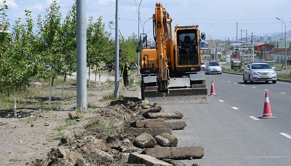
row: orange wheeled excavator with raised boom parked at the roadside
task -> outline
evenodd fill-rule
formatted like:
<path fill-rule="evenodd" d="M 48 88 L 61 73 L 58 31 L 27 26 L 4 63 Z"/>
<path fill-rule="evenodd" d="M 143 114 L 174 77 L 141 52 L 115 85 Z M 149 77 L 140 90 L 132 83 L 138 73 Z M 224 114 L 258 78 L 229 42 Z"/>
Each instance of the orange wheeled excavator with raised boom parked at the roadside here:
<path fill-rule="evenodd" d="M 153 14 L 153 34 L 156 46 L 141 52 L 141 98 L 150 103 L 208 103 L 205 75 L 200 71 L 200 39 L 198 25 L 179 26 L 172 38 L 172 18 L 161 3 Z M 174 44 L 175 40 L 175 44 Z M 141 51 L 141 41 L 137 52 Z"/>

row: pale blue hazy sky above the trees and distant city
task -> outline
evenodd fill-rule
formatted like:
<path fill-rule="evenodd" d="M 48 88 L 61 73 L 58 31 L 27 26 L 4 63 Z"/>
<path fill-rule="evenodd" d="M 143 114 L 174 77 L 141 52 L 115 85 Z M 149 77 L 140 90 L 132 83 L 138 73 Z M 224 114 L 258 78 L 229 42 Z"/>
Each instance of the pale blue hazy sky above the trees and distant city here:
<path fill-rule="evenodd" d="M 74 0 L 57 0 L 57 2 L 61 6 L 61 13 L 65 16 Z M 152 20 L 148 19 L 155 12 L 156 2 L 161 2 L 172 17 L 172 27 L 176 24 L 199 25 L 200 32 L 205 32 L 207 39 L 210 37 L 213 40 L 224 40 L 221 37 L 225 37 L 235 40 L 236 22 L 238 22 L 238 38 L 241 36 L 240 29 L 247 29 L 249 35 L 253 32 L 258 38 L 262 34 L 282 31 L 285 33 L 284 24 L 276 17 L 283 18 L 287 31 L 291 30 L 290 0 L 143 0 L 140 5 L 140 33 L 143 29 L 145 33 L 152 30 Z M 7 0 L 9 10 L 6 14 L 10 19 L 10 24 L 13 24 L 16 18 L 25 19 L 24 10 L 31 10 L 33 20 L 36 22 L 37 15 L 45 15 L 45 9 L 50 3 L 52 0 Z M 139 3 L 140 0 L 119 0 L 119 29 L 125 38 L 132 33 L 138 34 Z M 86 0 L 86 4 L 87 18 L 93 16 L 97 21 L 101 15 L 106 24 L 106 30 L 111 31 L 114 37 L 115 30 L 111 30 L 108 23 L 115 22 L 116 1 Z M 148 21 L 145 22 L 146 20 Z M 151 31 L 148 33 L 148 39 L 152 36 Z M 242 36 L 245 37 L 246 33 L 242 32 Z"/>

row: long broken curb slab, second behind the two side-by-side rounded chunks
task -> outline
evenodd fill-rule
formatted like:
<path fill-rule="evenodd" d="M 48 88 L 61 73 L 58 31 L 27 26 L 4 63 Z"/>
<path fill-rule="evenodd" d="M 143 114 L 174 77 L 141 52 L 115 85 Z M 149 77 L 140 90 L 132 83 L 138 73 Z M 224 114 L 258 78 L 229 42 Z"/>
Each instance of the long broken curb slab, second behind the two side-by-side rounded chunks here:
<path fill-rule="evenodd" d="M 177 121 L 177 122 L 146 122 L 145 128 L 169 128 L 172 130 L 182 130 L 185 128 L 185 121 Z"/>

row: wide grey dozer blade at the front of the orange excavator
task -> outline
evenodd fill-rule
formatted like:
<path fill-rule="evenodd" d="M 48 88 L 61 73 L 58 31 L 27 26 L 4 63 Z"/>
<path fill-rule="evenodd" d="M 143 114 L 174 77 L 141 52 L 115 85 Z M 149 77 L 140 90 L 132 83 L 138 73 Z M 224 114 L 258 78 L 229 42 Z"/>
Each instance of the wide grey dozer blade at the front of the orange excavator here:
<path fill-rule="evenodd" d="M 180 88 L 170 89 L 168 93 L 159 93 L 157 90 L 144 91 L 144 98 L 150 104 L 159 103 L 162 105 L 174 104 L 200 104 L 208 103 L 207 88 Z"/>

